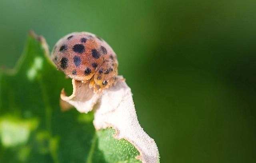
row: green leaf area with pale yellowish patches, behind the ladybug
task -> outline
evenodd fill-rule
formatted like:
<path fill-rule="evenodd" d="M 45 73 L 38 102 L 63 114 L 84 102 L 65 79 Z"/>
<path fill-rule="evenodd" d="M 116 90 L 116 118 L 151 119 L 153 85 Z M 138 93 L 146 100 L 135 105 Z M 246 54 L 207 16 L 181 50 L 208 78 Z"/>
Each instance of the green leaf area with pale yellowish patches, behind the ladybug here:
<path fill-rule="evenodd" d="M 137 149 L 96 131 L 94 115 L 60 110 L 71 80 L 48 59 L 44 38 L 30 34 L 18 65 L 0 72 L 0 162 L 137 163 Z"/>

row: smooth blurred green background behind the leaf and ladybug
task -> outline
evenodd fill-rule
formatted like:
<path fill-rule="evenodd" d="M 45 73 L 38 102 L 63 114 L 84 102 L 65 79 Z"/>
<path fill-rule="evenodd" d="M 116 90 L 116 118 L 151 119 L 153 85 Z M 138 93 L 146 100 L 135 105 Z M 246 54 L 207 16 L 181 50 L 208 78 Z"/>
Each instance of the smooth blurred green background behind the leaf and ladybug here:
<path fill-rule="evenodd" d="M 255 0 L 1 0 L 1 67 L 30 29 L 112 46 L 161 163 L 256 162 Z"/>

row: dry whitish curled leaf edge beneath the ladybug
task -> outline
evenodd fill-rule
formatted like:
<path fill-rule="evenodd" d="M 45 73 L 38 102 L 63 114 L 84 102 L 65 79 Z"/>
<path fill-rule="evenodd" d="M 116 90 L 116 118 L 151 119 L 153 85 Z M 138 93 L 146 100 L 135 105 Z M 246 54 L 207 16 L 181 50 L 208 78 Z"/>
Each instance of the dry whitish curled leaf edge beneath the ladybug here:
<path fill-rule="evenodd" d="M 158 163 L 159 152 L 154 140 L 140 126 L 132 92 L 122 76 L 116 77 L 116 84 L 102 92 L 94 93 L 89 83 L 72 80 L 74 91 L 69 97 L 62 91 L 61 99 L 74 105 L 81 113 L 94 111 L 94 127 L 97 130 L 113 127 L 114 138 L 125 139 L 140 152 L 136 158 L 143 163 Z"/>

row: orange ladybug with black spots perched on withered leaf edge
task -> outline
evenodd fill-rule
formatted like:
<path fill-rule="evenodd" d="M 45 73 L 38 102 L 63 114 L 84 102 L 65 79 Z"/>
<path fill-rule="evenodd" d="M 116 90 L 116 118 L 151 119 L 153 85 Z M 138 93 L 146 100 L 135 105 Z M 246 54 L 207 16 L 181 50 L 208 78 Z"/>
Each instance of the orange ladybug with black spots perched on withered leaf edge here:
<path fill-rule="evenodd" d="M 61 38 L 51 59 L 66 76 L 89 82 L 89 87 L 110 87 L 118 75 L 118 61 L 112 48 L 102 38 L 89 32 L 74 32 Z"/>

